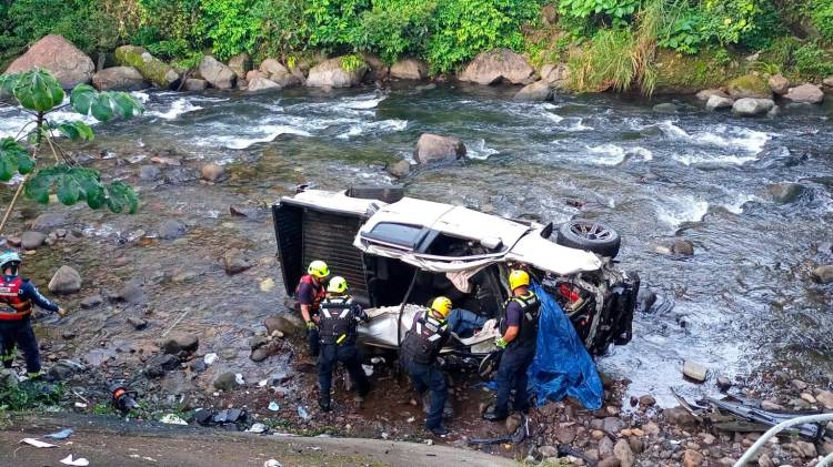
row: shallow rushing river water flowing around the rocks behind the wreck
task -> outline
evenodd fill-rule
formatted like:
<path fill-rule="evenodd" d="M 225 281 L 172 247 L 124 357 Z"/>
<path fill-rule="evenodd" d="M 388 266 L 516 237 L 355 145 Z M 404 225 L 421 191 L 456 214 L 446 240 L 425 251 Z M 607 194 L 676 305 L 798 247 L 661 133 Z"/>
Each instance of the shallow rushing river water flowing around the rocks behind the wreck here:
<path fill-rule="evenodd" d="M 501 215 L 556 223 L 581 215 L 618 229 L 621 267 L 638 271 L 643 286 L 660 296 L 651 312 L 635 317 L 633 342 L 600 361 L 602 370 L 633 382 L 632 394 L 669 403 L 669 387 L 703 390 L 682 380 L 686 358 L 729 377 L 789 369 L 829 383 L 833 288 L 814 284 L 810 271 L 833 261 L 833 100 L 783 108 L 774 119 L 740 119 L 707 113 L 693 101 L 679 101 L 680 111 L 666 114 L 652 111 L 655 102 L 610 95 L 516 103 L 513 91 L 431 85 L 254 97 L 136 93 L 147 114 L 98 125 L 97 142 L 78 153 L 137 183 L 142 213 L 78 209 L 77 226 L 103 246 L 39 253 L 33 267 L 48 280 L 60 261 L 107 264 L 98 273 L 100 288 L 138 274 L 149 295 L 144 308 L 161 309 L 162 318 L 170 311 L 172 319 L 179 315 L 173 309 L 195 306 L 194 319 L 214 326 L 215 346 L 235 347 L 245 361 L 238 337 L 251 335 L 281 303 L 280 285 L 261 293 L 258 282 L 281 280 L 269 261 L 274 238 L 268 215 L 230 217 L 228 205 L 272 202 L 304 182 L 332 190 L 401 183 L 412 196 Z M 0 135 L 24 121 L 8 108 L 0 119 Z M 470 159 L 392 179 L 385 164 L 411 160 L 423 132 L 462 139 Z M 215 161 L 232 176 L 207 186 L 193 169 L 164 167 L 167 183 L 137 181 L 138 166 L 159 154 L 185 166 Z M 802 195 L 774 202 L 767 187 L 782 182 L 800 182 Z M 168 217 L 188 224 L 184 240 L 153 238 Z M 150 238 L 131 243 L 140 229 Z M 692 241 L 694 256 L 655 252 L 674 236 Z M 229 246 L 261 256 L 255 272 L 227 278 L 218 257 Z M 182 271 L 195 276 L 170 281 Z M 100 318 L 102 328 L 111 317 Z"/>

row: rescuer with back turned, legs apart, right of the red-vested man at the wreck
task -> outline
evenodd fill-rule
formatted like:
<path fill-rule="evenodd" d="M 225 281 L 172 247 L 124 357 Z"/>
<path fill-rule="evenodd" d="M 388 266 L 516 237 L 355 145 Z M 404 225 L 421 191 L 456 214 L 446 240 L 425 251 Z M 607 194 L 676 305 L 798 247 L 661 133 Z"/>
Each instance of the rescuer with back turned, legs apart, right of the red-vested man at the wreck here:
<path fill-rule="evenodd" d="M 370 390 L 368 376 L 362 368 L 359 349 L 355 347 L 355 324 L 369 322 L 364 309 L 348 295 L 348 283 L 344 277 L 334 276 L 327 285 L 327 298 L 321 302 L 319 313 L 319 335 L 321 353 L 318 358 L 318 382 L 321 390 L 318 405 L 322 410 L 330 410 L 330 387 L 332 370 L 341 362 L 350 373 L 350 378 L 359 388 L 359 396 L 364 397 Z"/>

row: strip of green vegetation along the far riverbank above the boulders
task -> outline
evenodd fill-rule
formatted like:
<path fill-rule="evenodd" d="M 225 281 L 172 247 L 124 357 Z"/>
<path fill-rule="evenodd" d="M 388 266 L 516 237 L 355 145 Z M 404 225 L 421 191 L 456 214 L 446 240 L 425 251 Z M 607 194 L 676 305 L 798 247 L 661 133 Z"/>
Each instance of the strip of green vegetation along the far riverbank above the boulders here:
<path fill-rule="evenodd" d="M 38 11 L 38 14 L 31 14 Z M 48 33 L 84 52 L 142 45 L 182 69 L 205 52 L 293 68 L 320 53 L 459 71 L 509 48 L 566 63 L 576 91 L 691 91 L 753 72 L 833 73 L 833 0 L 19 0 L 0 2 L 0 64 Z M 351 59 L 352 58 L 352 59 Z"/>

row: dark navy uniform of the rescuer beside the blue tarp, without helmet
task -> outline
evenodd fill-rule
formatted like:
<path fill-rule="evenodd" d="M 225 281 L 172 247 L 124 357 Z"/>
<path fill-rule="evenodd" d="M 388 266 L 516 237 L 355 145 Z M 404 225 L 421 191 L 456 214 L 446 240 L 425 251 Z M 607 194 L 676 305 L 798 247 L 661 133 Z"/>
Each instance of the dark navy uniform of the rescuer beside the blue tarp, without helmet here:
<path fill-rule="evenodd" d="M 535 357 L 540 311 L 541 303 L 532 292 L 510 298 L 504 307 L 500 325 L 501 335 L 505 335 L 510 326 L 519 326 L 520 329 L 518 336 L 503 351 L 495 376 L 498 398 L 494 413 L 501 417 L 508 414 L 509 396 L 513 389 L 515 392 L 514 409 L 529 408 L 526 369 Z"/>

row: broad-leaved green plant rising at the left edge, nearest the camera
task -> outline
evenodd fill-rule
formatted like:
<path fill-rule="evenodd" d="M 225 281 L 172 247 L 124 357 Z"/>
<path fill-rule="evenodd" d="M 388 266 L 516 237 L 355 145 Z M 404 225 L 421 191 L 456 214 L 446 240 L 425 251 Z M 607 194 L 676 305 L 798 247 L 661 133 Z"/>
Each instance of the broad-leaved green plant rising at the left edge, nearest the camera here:
<path fill-rule="evenodd" d="M 0 140 L 0 181 L 9 181 L 16 174 L 26 176 L 14 199 L 7 209 L 2 230 L 17 197 L 24 191 L 27 197 L 38 203 L 49 203 L 50 195 L 66 205 L 86 201 L 92 209 L 107 206 L 112 212 L 134 213 L 139 197 L 129 185 L 122 182 L 104 183 L 93 169 L 78 166 L 76 161 L 60 145 L 59 136 L 71 141 L 90 141 L 92 129 L 83 121 L 58 123 L 50 120 L 50 113 L 69 108 L 81 115 L 90 115 L 98 121 L 130 119 L 143 111 L 142 105 L 124 92 L 99 92 L 88 84 L 79 84 L 66 94 L 58 80 L 46 70 L 38 68 L 0 77 L 0 90 L 10 93 L 24 111 L 32 114 L 32 121 L 21 130 L 18 138 Z M 31 145 L 31 150 L 27 148 Z M 38 167 L 42 162 L 38 155 L 48 149 L 54 163 Z"/>

